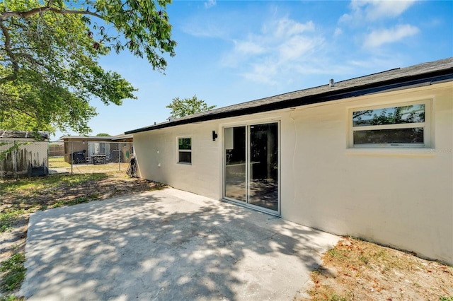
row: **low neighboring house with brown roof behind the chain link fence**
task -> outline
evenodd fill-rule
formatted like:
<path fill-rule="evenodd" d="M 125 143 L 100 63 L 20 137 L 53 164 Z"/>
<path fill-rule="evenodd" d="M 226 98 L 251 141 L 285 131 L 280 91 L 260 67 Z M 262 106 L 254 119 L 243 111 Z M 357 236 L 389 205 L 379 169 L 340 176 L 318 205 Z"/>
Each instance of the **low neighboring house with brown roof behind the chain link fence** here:
<path fill-rule="evenodd" d="M 67 163 L 71 163 L 71 158 L 74 158 L 74 163 L 85 163 L 86 158 L 99 153 L 108 156 L 110 162 L 117 162 L 118 152 L 121 152 L 121 162 L 129 162 L 133 153 L 132 135 L 62 136 L 60 140 L 64 142 L 64 160 Z"/>

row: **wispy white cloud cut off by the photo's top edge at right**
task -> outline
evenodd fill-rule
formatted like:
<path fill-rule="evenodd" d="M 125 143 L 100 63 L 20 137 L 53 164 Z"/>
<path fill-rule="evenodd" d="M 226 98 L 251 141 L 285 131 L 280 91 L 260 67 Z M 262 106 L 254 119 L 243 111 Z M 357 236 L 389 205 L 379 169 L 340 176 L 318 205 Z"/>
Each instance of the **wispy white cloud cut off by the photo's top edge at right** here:
<path fill-rule="evenodd" d="M 339 21 L 360 25 L 363 20 L 375 21 L 395 18 L 413 4 L 415 4 L 414 0 L 352 0 L 350 3 L 351 12 L 341 16 Z"/>

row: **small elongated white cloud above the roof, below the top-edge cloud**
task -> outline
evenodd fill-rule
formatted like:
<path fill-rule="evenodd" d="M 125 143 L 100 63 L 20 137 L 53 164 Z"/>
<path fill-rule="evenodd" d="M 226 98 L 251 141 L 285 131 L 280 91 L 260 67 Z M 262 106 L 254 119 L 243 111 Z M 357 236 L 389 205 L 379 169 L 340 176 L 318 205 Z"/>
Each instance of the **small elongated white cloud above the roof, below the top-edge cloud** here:
<path fill-rule="evenodd" d="M 416 35 L 420 30 L 412 25 L 396 25 L 394 28 L 373 30 L 365 39 L 365 47 L 379 47 L 383 44 L 398 42 L 405 37 Z"/>

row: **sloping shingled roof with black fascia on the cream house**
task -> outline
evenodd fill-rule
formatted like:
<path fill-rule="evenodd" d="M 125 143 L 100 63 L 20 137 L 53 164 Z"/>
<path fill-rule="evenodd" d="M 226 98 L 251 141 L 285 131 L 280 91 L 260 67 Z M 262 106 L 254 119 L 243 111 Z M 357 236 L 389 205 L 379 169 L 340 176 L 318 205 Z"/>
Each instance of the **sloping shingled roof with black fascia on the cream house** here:
<path fill-rule="evenodd" d="M 170 122 L 162 122 L 160 124 L 126 131 L 125 134 L 134 134 L 181 124 L 204 122 L 259 112 L 268 112 L 289 107 L 299 107 L 319 102 L 379 93 L 386 90 L 403 89 L 414 85 L 430 85 L 431 83 L 452 80 L 453 57 L 450 57 L 448 59 L 440 59 L 438 61 L 418 64 L 406 68 L 391 69 L 367 76 L 348 79 L 346 81 L 339 81 L 338 83 L 335 83 L 333 87 L 329 84 L 320 85 L 318 87 L 298 90 L 269 98 L 243 102 L 239 105 L 221 107 L 181 117 Z"/>

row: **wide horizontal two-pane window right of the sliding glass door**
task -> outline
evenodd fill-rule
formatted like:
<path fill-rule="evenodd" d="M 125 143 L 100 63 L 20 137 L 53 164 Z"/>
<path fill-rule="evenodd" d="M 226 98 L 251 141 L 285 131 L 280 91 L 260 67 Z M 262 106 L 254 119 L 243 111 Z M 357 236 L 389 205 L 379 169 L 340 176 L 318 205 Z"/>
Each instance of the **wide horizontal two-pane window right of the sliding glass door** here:
<path fill-rule="evenodd" d="M 430 144 L 430 101 L 350 110 L 350 146 Z"/>

